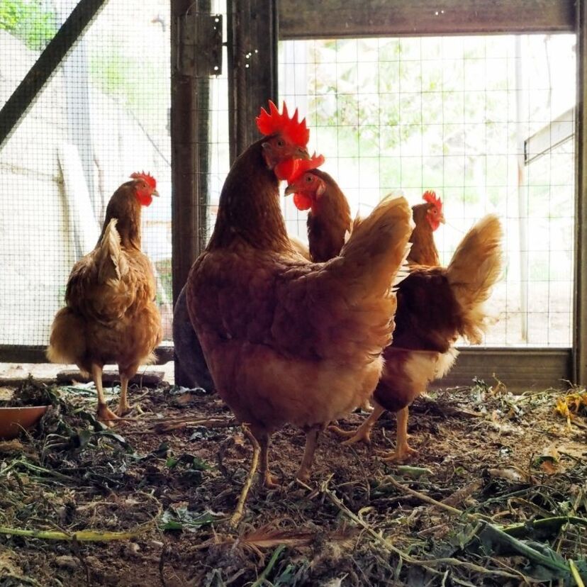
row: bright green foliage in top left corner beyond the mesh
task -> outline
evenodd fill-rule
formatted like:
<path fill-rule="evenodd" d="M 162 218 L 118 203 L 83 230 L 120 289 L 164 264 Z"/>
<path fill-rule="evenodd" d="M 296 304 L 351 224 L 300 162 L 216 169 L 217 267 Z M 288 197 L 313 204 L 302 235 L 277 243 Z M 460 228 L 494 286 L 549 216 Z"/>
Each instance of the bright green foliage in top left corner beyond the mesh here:
<path fill-rule="evenodd" d="M 29 49 L 43 50 L 57 33 L 55 13 L 43 0 L 0 0 L 0 28 L 26 43 Z"/>

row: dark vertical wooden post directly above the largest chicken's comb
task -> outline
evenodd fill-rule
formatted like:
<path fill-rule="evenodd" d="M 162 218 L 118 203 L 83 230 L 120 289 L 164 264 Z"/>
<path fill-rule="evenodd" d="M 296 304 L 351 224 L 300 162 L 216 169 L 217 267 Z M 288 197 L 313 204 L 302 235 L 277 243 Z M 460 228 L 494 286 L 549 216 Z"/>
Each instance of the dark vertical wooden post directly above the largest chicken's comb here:
<path fill-rule="evenodd" d="M 227 28 L 232 164 L 259 138 L 259 108 L 277 97 L 276 0 L 230 0 Z"/>

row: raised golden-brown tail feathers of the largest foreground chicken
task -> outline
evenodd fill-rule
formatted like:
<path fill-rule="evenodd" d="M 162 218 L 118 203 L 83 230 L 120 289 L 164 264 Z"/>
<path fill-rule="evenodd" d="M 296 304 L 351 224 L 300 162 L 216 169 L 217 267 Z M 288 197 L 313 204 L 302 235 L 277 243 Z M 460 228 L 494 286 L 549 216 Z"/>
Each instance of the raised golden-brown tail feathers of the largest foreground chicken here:
<path fill-rule="evenodd" d="M 355 220 L 340 256 L 359 286 L 381 296 L 398 282 L 409 252 L 412 211 L 403 197 L 387 197 L 361 220 Z"/>

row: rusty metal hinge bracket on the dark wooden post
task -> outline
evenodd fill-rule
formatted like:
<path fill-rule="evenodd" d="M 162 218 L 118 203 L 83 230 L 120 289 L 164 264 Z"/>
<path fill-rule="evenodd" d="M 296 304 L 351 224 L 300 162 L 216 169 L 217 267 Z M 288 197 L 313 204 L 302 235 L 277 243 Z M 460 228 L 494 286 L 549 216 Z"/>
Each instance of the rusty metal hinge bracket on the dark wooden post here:
<path fill-rule="evenodd" d="M 186 13 L 179 30 L 177 69 L 182 75 L 206 77 L 222 73 L 222 15 Z"/>

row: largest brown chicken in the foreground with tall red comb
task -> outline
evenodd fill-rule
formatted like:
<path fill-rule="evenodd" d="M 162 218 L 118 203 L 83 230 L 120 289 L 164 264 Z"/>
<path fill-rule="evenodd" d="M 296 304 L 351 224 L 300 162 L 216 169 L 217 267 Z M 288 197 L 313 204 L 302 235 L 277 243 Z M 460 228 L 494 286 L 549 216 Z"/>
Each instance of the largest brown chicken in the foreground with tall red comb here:
<path fill-rule="evenodd" d="M 382 202 L 340 257 L 308 262 L 293 250 L 279 206 L 279 179 L 291 174 L 293 157 L 308 157 L 305 121 L 272 106 L 257 125 L 265 138 L 230 169 L 186 293 L 216 389 L 258 440 L 262 479 L 272 486 L 272 432 L 286 423 L 306 432 L 296 475 L 307 480 L 325 425 L 371 396 L 379 380 L 410 209 L 403 198 Z"/>

